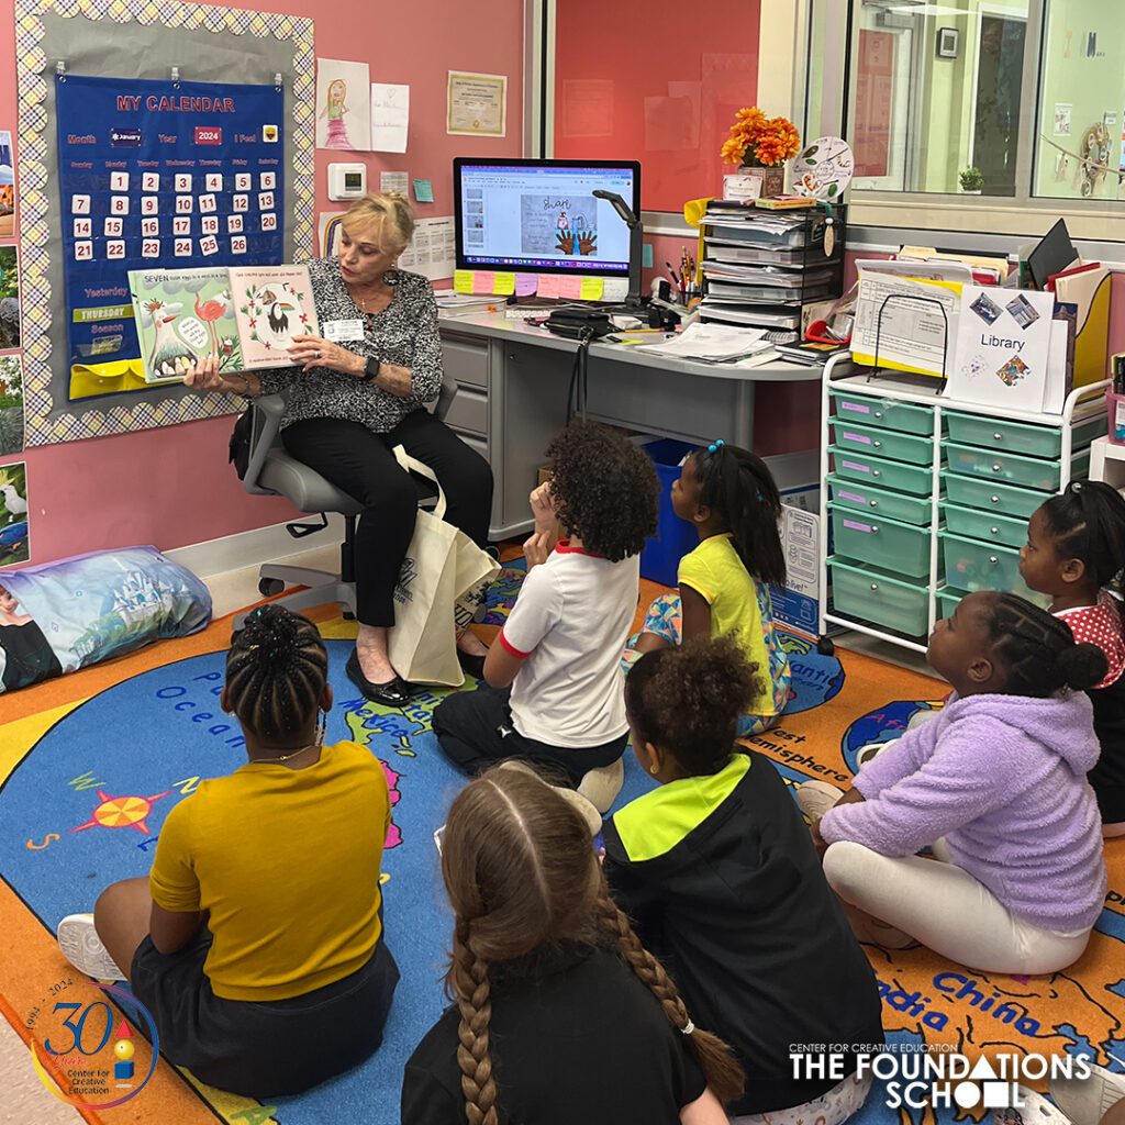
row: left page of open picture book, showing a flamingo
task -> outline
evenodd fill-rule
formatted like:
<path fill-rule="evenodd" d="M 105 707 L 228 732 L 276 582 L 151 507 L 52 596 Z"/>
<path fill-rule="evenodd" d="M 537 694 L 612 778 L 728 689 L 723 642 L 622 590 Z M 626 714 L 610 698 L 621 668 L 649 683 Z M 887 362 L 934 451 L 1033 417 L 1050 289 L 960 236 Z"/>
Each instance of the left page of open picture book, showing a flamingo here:
<path fill-rule="evenodd" d="M 223 375 L 242 370 L 228 270 L 129 270 L 129 292 L 146 382 L 182 379 L 208 358 Z"/>

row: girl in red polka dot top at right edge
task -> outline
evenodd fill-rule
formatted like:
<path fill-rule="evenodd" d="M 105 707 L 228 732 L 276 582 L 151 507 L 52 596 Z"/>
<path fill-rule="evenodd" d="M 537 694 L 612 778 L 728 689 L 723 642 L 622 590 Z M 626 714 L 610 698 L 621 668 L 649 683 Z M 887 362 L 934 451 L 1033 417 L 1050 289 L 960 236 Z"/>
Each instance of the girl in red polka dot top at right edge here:
<path fill-rule="evenodd" d="M 1125 500 L 1101 480 L 1072 480 L 1032 515 L 1019 573 L 1029 590 L 1051 595 L 1051 612 L 1074 640 L 1106 654 L 1109 670 L 1087 693 L 1101 756 L 1088 777 L 1106 837 L 1125 836 L 1125 636 L 1119 587 L 1125 566 Z"/>

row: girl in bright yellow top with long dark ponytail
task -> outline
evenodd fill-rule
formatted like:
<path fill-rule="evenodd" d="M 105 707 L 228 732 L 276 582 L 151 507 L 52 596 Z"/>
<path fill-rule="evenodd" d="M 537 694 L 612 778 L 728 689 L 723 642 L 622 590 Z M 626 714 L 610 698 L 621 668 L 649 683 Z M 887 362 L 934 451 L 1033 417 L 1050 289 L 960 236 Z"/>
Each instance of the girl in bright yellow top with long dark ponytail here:
<path fill-rule="evenodd" d="M 785 584 L 777 486 L 760 457 L 714 441 L 684 461 L 672 507 L 695 525 L 700 544 L 680 560 L 678 595 L 652 603 L 624 662 L 691 637 L 735 637 L 760 673 L 738 736 L 758 735 L 785 710 L 792 678 L 770 597 L 770 583 Z"/>

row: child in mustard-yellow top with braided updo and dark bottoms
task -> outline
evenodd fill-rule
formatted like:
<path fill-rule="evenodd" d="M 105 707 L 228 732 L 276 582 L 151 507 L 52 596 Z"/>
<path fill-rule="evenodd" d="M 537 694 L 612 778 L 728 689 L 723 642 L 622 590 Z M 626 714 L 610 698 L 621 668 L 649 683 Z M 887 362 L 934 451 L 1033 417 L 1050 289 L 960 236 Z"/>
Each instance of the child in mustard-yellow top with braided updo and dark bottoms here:
<path fill-rule="evenodd" d="M 169 812 L 147 879 L 58 925 L 76 969 L 128 979 L 171 1062 L 251 1098 L 367 1059 L 398 982 L 379 893 L 387 780 L 354 742 L 322 745 L 327 663 L 305 618 L 273 605 L 246 618 L 220 702 L 249 764 Z"/>

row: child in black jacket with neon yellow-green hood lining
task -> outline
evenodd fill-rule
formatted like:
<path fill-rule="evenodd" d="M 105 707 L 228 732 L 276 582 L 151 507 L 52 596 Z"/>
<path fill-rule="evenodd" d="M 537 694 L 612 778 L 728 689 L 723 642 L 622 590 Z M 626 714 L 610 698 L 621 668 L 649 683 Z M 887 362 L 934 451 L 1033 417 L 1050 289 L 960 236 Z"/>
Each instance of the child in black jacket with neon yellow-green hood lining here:
<path fill-rule="evenodd" d="M 633 754 L 660 788 L 606 824 L 605 876 L 695 1018 L 735 1048 L 747 1083 L 734 1120 L 839 1125 L 871 1076 L 796 1079 L 790 1044 L 882 1043 L 881 1001 L 796 803 L 768 758 L 735 742 L 757 687 L 729 638 L 636 664 Z"/>

